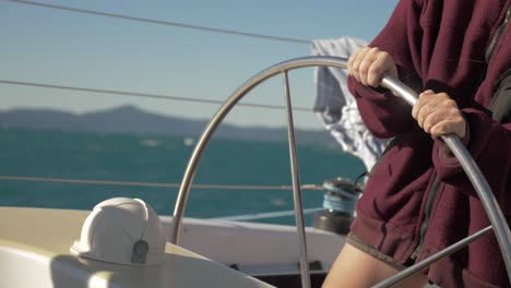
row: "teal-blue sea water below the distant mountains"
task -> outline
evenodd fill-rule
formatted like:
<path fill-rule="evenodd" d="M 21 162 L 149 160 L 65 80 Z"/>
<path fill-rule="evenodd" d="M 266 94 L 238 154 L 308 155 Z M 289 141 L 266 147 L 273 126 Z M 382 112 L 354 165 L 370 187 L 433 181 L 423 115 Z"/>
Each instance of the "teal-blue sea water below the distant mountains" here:
<path fill-rule="evenodd" d="M 178 136 L 0 130 L 0 176 L 180 183 L 192 153 Z M 299 139 L 298 139 L 299 142 Z M 365 168 L 340 147 L 298 144 L 301 183 L 335 177 L 355 179 Z M 195 184 L 289 185 L 286 142 L 213 139 Z M 139 197 L 170 215 L 177 188 L 73 184 L 0 180 L 0 206 L 92 209 L 115 196 Z M 306 208 L 320 207 L 322 192 L 304 191 Z M 191 190 L 186 215 L 210 218 L 293 209 L 285 191 Z M 310 223 L 311 217 L 307 218 Z M 293 217 L 258 220 L 293 224 Z"/>

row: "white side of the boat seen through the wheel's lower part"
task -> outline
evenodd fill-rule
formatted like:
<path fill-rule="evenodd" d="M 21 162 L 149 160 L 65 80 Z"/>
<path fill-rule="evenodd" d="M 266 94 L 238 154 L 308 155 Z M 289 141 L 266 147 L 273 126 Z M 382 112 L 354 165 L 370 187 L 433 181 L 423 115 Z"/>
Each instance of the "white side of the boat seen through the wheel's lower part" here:
<path fill-rule="evenodd" d="M 171 217 L 161 218 L 169 229 Z M 328 272 L 344 241 L 344 236 L 307 228 L 309 262 Z M 179 244 L 249 275 L 299 274 L 299 243 L 292 226 L 185 218 Z"/>

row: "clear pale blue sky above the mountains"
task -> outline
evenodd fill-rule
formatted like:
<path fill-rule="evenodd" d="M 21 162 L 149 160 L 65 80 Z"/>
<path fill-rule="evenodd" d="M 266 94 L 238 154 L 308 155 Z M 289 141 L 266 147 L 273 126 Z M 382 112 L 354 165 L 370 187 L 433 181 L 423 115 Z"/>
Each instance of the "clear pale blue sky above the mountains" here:
<path fill-rule="evenodd" d="M 37 0 L 39 1 L 39 0 Z M 397 0 L 43 1 L 87 10 L 302 39 L 355 36 L 370 40 Z M 0 0 L 0 80 L 226 99 L 257 72 L 310 55 L 307 44 L 278 43 Z M 293 104 L 312 107 L 312 69 L 292 72 Z M 210 119 L 218 105 L 142 99 L 0 84 L 0 110 L 52 108 L 87 112 L 133 105 L 161 115 Z M 243 101 L 283 105 L 282 79 Z M 283 125 L 282 111 L 235 108 L 226 121 Z M 312 112 L 296 124 L 320 129 Z"/>

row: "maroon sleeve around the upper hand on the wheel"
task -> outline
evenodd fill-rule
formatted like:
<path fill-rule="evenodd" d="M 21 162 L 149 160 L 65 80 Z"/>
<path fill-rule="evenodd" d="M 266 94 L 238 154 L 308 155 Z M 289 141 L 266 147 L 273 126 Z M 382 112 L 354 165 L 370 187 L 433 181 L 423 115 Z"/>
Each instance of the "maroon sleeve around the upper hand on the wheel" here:
<path fill-rule="evenodd" d="M 421 91 L 419 24 L 421 1 L 402 0 L 381 33 L 369 46 L 387 51 L 394 60 L 400 80 Z M 348 86 L 358 105 L 361 118 L 377 137 L 393 137 L 413 128 L 408 104 L 387 89 L 373 89 L 358 84 L 353 77 Z"/>

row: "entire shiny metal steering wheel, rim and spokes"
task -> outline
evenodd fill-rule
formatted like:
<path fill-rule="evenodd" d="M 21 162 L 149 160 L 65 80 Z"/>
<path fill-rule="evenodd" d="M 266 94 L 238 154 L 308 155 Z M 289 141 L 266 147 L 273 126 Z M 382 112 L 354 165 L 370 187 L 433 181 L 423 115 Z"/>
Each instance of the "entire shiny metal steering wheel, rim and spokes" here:
<path fill-rule="evenodd" d="M 213 133 L 221 124 L 223 119 L 227 116 L 230 109 L 253 87 L 277 74 L 284 75 L 284 87 L 285 87 L 285 96 L 286 96 L 286 112 L 287 112 L 287 127 L 288 127 L 288 141 L 289 141 L 289 154 L 290 154 L 290 163 L 292 163 L 292 177 L 293 177 L 293 194 L 295 199 L 295 218 L 297 223 L 297 231 L 298 238 L 300 242 L 300 269 L 301 269 L 301 281 L 302 287 L 310 287 L 310 275 L 308 268 L 308 260 L 307 260 L 307 242 L 305 237 L 305 226 L 304 226 L 304 214 L 302 214 L 302 205 L 301 205 L 301 191 L 299 187 L 299 175 L 298 175 L 298 163 L 296 158 L 296 143 L 294 139 L 294 128 L 293 128 L 293 113 L 292 113 L 292 105 L 290 105 L 290 92 L 289 92 L 289 82 L 287 77 L 287 72 L 289 70 L 306 68 L 306 67 L 334 67 L 346 69 L 347 68 L 347 59 L 345 58 L 337 58 L 337 57 L 305 57 L 305 58 L 297 58 L 292 59 L 288 61 L 281 62 L 275 64 L 266 70 L 263 70 L 249 81 L 247 81 L 243 85 L 241 85 L 238 89 L 233 93 L 233 95 L 227 99 L 224 106 L 221 107 L 215 117 L 211 120 L 211 122 L 205 128 L 204 132 L 202 133 L 200 140 L 198 141 L 195 148 L 192 153 L 190 161 L 188 163 L 187 169 L 185 171 L 185 176 L 181 182 L 181 187 L 179 190 L 179 194 L 176 201 L 176 207 L 174 211 L 174 225 L 171 228 L 170 241 L 175 244 L 179 242 L 179 232 L 181 228 L 182 218 L 185 215 L 185 208 L 188 201 L 188 195 L 190 193 L 191 183 L 193 181 L 193 177 L 195 176 L 197 167 L 199 165 L 200 158 L 207 146 L 210 139 L 212 137 Z M 391 77 L 383 77 L 381 86 L 389 88 L 393 94 L 396 96 L 402 97 L 412 106 L 415 105 L 417 101 L 418 95 L 406 85 L 401 83 L 400 81 Z M 488 182 L 483 177 L 479 168 L 475 164 L 474 159 L 471 157 L 470 153 L 466 151 L 462 142 L 454 135 L 444 135 L 442 140 L 447 143 L 450 149 L 453 152 L 454 156 L 461 163 L 463 169 L 465 170 L 466 175 L 468 176 L 472 184 L 474 185 L 477 195 L 483 203 L 483 206 L 488 215 L 488 218 L 491 223 L 490 227 L 487 227 L 479 232 L 474 233 L 473 236 L 468 236 L 464 240 L 445 248 L 444 250 L 431 255 L 430 257 L 414 264 L 413 266 L 408 267 L 405 271 L 402 271 L 394 276 L 383 280 L 376 287 L 391 287 L 409 275 L 419 272 L 425 266 L 430 265 L 432 262 L 439 260 L 440 257 L 450 255 L 455 251 L 460 250 L 461 248 L 467 245 L 470 242 L 480 238 L 482 236 L 486 235 L 486 232 L 490 231 L 490 228 L 496 233 L 497 241 L 499 243 L 502 257 L 506 263 L 506 268 L 508 272 L 508 277 L 511 279 L 511 232 L 509 230 L 509 226 L 506 221 L 506 218 L 502 215 L 502 212 L 499 208 L 497 200 L 495 199 L 491 189 L 488 185 Z"/>

